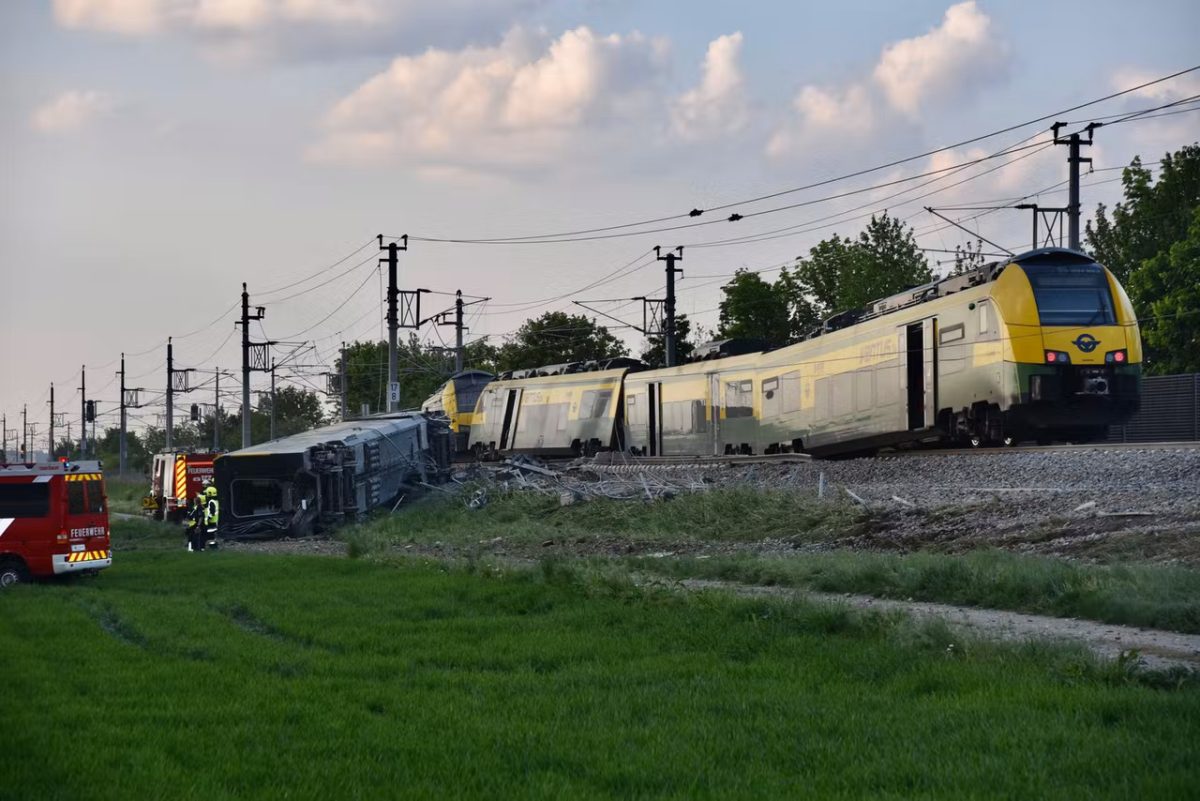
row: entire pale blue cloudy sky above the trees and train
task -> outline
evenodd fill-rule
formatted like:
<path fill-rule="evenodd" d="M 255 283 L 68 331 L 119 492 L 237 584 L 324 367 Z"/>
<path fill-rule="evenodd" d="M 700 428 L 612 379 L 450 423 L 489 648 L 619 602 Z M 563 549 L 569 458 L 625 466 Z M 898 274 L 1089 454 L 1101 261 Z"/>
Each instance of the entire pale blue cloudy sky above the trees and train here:
<path fill-rule="evenodd" d="M 380 337 L 378 234 L 409 235 L 400 285 L 433 290 L 422 314 L 457 289 L 491 299 L 468 339 L 497 344 L 545 311 L 592 314 L 574 301 L 640 325 L 628 299 L 664 291 L 655 245 L 684 246 L 678 309 L 707 329 L 736 270 L 770 279 L 871 212 L 905 219 L 936 263 L 973 237 L 925 205 L 1066 205 L 1049 120 L 791 189 L 1194 67 L 1196 30 L 1194 0 L 4 2 L 0 411 L 17 429 L 28 405 L 43 438 L 53 383 L 78 432 L 86 365 L 113 424 L 125 353 L 127 384 L 158 404 L 133 424 L 154 423 L 168 337 L 202 371 L 184 403 L 211 401 L 203 371 L 240 368 L 242 282 L 284 380 L 323 387 L 338 343 Z M 1200 72 L 1052 119 L 1078 130 L 1194 95 Z M 1098 130 L 1085 211 L 1120 199 L 1133 157 L 1198 139 L 1200 113 Z M 943 213 L 1030 245 L 1030 212 Z M 606 230 L 545 241 L 590 229 Z M 496 241 L 514 237 L 529 241 Z M 452 343 L 445 326 L 419 336 Z"/>

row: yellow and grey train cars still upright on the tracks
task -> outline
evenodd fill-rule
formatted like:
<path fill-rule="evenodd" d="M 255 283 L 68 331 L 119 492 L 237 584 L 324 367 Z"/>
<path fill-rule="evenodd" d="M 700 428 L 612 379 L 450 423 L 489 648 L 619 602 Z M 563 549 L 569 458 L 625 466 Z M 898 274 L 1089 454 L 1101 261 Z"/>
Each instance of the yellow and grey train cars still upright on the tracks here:
<path fill-rule="evenodd" d="M 830 318 L 778 350 L 502 375 L 482 387 L 467 445 L 479 454 L 838 456 L 1087 441 L 1128 420 L 1140 390 L 1124 290 L 1090 257 L 1046 248 Z"/>

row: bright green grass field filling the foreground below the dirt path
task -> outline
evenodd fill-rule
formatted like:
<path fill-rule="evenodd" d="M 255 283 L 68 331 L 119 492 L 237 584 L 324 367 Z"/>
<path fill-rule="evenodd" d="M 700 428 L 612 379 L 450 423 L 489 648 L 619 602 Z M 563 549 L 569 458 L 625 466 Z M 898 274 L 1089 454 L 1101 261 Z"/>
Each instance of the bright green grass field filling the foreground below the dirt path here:
<path fill-rule="evenodd" d="M 10 797 L 1164 799 L 1200 781 L 1193 679 L 556 562 L 118 546 L 96 579 L 0 603 Z"/>

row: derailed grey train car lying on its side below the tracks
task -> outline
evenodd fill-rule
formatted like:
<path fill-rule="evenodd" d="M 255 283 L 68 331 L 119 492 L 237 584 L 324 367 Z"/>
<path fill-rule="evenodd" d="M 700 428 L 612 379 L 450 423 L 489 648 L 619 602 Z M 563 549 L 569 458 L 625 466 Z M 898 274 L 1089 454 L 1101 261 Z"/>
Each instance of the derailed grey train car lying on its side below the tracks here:
<path fill-rule="evenodd" d="M 284 436 L 216 459 L 218 535 L 306 536 L 394 504 L 450 466 L 444 420 L 374 415 Z"/>

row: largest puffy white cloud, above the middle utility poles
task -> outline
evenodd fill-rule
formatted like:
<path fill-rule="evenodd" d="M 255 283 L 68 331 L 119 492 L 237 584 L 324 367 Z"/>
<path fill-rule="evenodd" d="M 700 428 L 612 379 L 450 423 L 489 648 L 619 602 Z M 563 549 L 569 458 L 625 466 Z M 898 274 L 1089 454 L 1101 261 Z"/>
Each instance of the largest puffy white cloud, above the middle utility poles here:
<path fill-rule="evenodd" d="M 314 161 L 527 167 L 599 146 L 659 107 L 667 46 L 588 28 L 401 56 L 340 101 Z"/>

